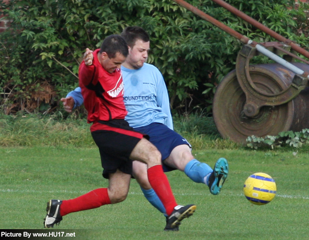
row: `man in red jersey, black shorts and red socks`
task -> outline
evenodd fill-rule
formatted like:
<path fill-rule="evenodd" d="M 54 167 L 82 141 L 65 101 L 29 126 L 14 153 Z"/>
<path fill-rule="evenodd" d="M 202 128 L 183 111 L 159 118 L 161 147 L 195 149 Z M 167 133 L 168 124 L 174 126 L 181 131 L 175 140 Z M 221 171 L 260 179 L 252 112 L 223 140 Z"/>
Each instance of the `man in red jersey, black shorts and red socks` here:
<path fill-rule="evenodd" d="M 59 224 L 62 217 L 76 211 L 124 201 L 132 175 L 132 161 L 147 164 L 150 185 L 162 201 L 167 217 L 166 228 L 175 228 L 193 214 L 195 205 L 177 205 L 167 176 L 161 166 L 161 153 L 143 135 L 131 128 L 125 116 L 121 64 L 128 56 L 128 45 L 120 35 L 105 38 L 100 49 L 89 49 L 79 69 L 79 83 L 88 111 L 91 135 L 99 148 L 103 177 L 108 188 L 95 189 L 71 200 L 50 200 L 44 227 Z"/>

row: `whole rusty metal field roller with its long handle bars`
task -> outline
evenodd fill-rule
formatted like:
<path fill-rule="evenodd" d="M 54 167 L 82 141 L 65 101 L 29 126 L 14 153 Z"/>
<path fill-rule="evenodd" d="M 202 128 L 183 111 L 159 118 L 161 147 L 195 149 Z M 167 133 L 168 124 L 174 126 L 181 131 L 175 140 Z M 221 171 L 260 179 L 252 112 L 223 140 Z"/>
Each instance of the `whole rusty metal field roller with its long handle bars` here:
<path fill-rule="evenodd" d="M 214 97 L 213 116 L 222 137 L 245 143 L 252 135 L 276 136 L 282 131 L 309 128 L 309 61 L 294 53 L 309 58 L 307 50 L 223 0 L 213 1 L 279 42 L 257 43 L 184 0 L 173 1 L 245 44 L 237 56 L 235 70 L 222 79 Z M 250 60 L 259 54 L 275 63 L 250 65 Z"/>

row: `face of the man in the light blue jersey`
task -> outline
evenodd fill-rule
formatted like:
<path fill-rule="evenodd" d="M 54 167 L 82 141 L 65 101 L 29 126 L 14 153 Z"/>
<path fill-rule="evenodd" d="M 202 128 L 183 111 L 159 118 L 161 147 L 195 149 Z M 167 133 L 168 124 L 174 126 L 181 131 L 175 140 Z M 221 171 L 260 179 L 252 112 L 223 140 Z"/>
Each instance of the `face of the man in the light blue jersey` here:
<path fill-rule="evenodd" d="M 129 55 L 126 63 L 131 69 L 140 69 L 148 58 L 148 51 L 150 49 L 150 42 L 144 42 L 140 39 L 135 41 L 135 45 L 129 47 Z"/>

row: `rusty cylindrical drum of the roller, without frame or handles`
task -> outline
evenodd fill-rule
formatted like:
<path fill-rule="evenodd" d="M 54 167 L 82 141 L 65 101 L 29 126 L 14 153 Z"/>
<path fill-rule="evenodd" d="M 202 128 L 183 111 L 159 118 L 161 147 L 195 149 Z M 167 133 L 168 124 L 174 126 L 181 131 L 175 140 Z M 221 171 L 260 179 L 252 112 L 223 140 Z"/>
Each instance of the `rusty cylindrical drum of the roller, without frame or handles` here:
<path fill-rule="evenodd" d="M 293 63 L 309 72 L 309 65 Z M 286 90 L 295 73 L 280 64 L 249 66 L 250 77 L 260 93 L 276 95 Z M 309 128 L 309 90 L 302 90 L 288 103 L 262 106 L 254 117 L 248 117 L 243 109 L 246 96 L 237 80 L 236 70 L 221 81 L 214 98 L 213 114 L 221 136 L 245 143 L 248 136 L 276 136 L 282 131 L 301 131 Z"/>

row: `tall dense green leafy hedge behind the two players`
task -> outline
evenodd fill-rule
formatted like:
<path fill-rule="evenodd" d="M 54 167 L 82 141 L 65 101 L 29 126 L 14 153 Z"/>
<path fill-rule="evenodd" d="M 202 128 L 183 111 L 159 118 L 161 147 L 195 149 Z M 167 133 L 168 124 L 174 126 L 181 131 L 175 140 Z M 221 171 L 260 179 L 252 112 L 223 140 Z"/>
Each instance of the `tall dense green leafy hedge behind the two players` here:
<path fill-rule="evenodd" d="M 211 0 L 188 2 L 251 39 L 273 40 Z M 291 8 L 292 0 L 227 2 L 307 47 L 308 5 Z M 0 9 L 12 20 L 10 30 L 0 34 L 1 106 L 6 114 L 57 109 L 59 98 L 78 86 L 85 48 L 98 48 L 105 36 L 133 25 L 150 34 L 148 62 L 164 74 L 172 107 L 183 112 L 198 105 L 210 111 L 216 87 L 234 69 L 241 47 L 171 0 L 10 0 Z"/>

